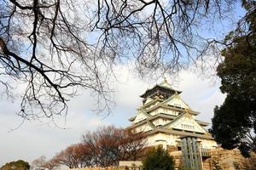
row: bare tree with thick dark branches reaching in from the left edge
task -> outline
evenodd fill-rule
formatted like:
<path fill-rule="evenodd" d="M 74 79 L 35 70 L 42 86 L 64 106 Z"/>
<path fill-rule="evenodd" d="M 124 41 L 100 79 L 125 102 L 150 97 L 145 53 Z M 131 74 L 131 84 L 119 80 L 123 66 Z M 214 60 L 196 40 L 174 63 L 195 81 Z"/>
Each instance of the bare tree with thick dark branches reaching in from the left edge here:
<path fill-rule="evenodd" d="M 73 1 L 1 1 L 0 76 L 26 83 L 19 87 L 20 116 L 66 114 L 79 87 L 103 101 L 99 110 L 108 107 L 108 56 L 87 42 L 88 23 L 78 8 Z M 9 89 L 8 81 L 1 83 Z"/>

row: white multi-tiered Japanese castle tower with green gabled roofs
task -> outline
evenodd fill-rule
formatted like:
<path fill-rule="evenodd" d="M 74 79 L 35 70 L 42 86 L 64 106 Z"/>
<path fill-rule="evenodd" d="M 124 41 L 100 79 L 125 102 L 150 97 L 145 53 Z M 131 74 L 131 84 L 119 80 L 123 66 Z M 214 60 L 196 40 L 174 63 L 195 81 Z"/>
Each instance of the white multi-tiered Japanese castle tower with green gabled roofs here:
<path fill-rule="evenodd" d="M 143 132 L 148 146 L 162 145 L 168 150 L 180 150 L 181 138 L 196 137 L 201 148 L 213 149 L 217 143 L 205 127 L 207 122 L 197 120 L 200 114 L 193 111 L 166 81 L 146 90 L 140 97 L 143 105 L 137 108 L 137 115 L 129 119 L 134 133 Z"/>

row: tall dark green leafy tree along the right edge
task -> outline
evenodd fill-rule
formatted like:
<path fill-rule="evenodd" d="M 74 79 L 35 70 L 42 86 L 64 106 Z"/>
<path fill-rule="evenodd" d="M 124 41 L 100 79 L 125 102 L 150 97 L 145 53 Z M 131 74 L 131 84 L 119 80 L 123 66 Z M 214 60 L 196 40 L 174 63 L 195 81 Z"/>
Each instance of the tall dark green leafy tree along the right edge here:
<path fill-rule="evenodd" d="M 218 65 L 224 104 L 216 106 L 210 132 L 225 149 L 238 147 L 243 156 L 256 151 L 256 3 L 243 1 L 246 29 L 230 32 L 224 62 Z"/>

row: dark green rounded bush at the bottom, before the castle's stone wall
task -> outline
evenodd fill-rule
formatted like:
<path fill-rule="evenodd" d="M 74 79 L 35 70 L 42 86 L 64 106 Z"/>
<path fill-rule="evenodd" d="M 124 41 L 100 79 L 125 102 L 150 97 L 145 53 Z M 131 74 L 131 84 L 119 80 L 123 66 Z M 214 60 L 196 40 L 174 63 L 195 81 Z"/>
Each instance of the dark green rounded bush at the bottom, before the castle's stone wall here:
<path fill-rule="evenodd" d="M 143 160 L 143 170 L 172 170 L 174 161 L 166 150 L 160 147 L 150 150 Z"/>

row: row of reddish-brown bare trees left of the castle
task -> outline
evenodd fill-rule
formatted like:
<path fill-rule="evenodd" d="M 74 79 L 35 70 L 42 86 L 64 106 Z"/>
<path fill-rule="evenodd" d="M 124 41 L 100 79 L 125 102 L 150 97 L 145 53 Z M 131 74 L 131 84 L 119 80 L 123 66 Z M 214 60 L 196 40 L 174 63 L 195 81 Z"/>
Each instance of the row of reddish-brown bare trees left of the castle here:
<path fill-rule="evenodd" d="M 60 166 L 69 168 L 111 167 L 119 161 L 136 161 L 144 156 L 146 141 L 141 133 L 108 126 L 98 127 L 82 135 L 82 141 L 71 144 L 48 161 L 40 156 L 32 161 L 33 168 L 52 170 Z"/>

